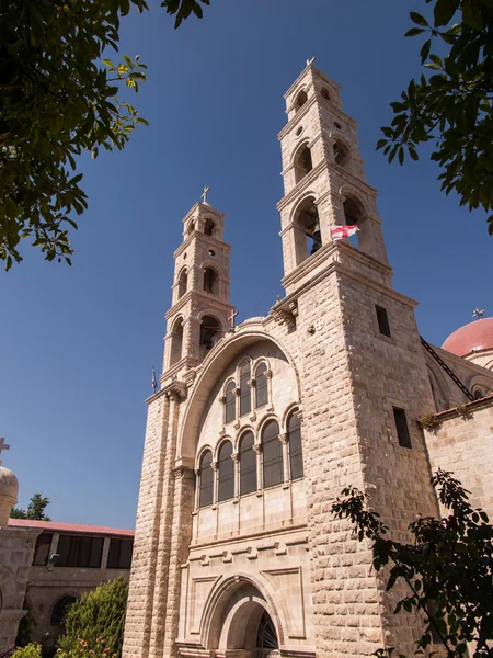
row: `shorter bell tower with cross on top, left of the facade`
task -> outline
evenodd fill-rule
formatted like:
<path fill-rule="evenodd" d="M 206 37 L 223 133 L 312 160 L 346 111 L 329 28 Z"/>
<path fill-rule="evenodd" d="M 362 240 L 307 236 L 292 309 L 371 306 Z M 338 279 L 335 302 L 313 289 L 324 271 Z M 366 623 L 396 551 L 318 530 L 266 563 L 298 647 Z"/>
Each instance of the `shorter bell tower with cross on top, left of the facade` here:
<path fill-rule="evenodd" d="M 204 200 L 206 192 L 204 192 Z M 233 324 L 229 303 L 230 245 L 225 215 L 204 201 L 183 218 L 183 242 L 174 252 L 173 297 L 165 314 L 161 383 L 198 365 Z"/>

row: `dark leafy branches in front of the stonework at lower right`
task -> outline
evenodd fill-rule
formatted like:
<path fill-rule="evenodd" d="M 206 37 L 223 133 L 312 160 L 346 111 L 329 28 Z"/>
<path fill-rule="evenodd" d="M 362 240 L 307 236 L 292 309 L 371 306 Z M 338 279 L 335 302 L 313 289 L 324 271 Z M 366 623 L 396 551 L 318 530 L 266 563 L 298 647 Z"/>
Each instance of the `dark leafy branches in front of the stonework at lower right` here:
<path fill-rule="evenodd" d="M 472 643 L 474 658 L 493 656 L 493 526 L 482 510 L 468 502 L 468 492 L 450 473 L 438 470 L 432 478 L 442 504 L 450 513 L 444 519 L 420 518 L 409 526 L 414 544 L 388 537 L 379 514 L 366 509 L 365 496 L 353 487 L 343 491 L 332 511 L 349 519 L 359 541 L 372 546 L 377 571 L 390 567 L 387 590 L 404 581 L 409 595 L 395 613 L 421 611 L 424 632 L 416 653 L 439 638 L 447 656 L 465 656 Z M 437 642 L 436 639 L 434 642 Z"/>

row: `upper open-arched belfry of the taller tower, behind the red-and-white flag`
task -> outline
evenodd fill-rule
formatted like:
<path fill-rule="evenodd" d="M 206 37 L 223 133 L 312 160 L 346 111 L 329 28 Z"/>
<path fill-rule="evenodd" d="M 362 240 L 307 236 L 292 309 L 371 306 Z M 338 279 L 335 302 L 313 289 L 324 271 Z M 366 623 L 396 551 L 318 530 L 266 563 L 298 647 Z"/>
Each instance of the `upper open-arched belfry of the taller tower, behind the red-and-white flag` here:
<path fill-rule="evenodd" d="M 285 195 L 277 207 L 288 293 L 305 279 L 308 257 L 317 253 L 308 270 L 323 266 L 336 226 L 357 225 L 359 250 L 387 265 L 377 191 L 366 182 L 356 122 L 343 112 L 340 90 L 311 61 L 284 97 Z"/>

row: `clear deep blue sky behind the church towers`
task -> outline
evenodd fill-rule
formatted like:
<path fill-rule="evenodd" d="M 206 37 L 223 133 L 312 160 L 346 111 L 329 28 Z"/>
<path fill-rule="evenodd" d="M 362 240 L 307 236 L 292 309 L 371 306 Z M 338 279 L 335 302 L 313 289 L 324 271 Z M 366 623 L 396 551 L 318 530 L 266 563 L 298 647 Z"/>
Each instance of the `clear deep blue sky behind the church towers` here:
<path fill-rule="evenodd" d="M 134 100 L 150 126 L 125 151 L 80 162 L 90 206 L 73 266 L 26 248 L 0 273 L 3 463 L 20 479 L 19 503 L 42 491 L 57 521 L 134 526 L 172 253 L 205 184 L 227 215 L 240 321 L 282 292 L 277 133 L 283 93 L 313 55 L 359 124 L 394 286 L 420 302 L 423 336 L 442 344 L 477 305 L 493 311 L 485 215 L 444 196 L 426 158 L 400 168 L 375 151 L 388 103 L 420 71 L 420 42 L 402 35 L 424 0 L 211 0 L 179 31 L 151 5 L 123 20 L 121 48 L 149 66 Z"/>

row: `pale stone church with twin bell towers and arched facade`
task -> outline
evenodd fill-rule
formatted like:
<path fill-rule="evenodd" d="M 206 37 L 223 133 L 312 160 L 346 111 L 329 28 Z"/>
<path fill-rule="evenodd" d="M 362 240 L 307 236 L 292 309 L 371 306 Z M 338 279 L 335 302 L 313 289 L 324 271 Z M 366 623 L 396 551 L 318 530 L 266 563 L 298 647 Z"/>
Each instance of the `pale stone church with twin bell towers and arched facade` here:
<path fill-rule="evenodd" d="M 267 317 L 234 327 L 223 215 L 204 202 L 183 220 L 125 658 L 411 655 L 419 620 L 392 614 L 368 545 L 331 506 L 355 485 L 405 540 L 417 513 L 438 512 L 442 447 L 431 458 L 417 419 L 468 402 L 493 420 L 493 373 L 424 343 L 415 302 L 392 287 L 339 86 L 310 63 L 285 98 L 286 296 Z M 357 243 L 333 239 L 344 226 Z"/>

